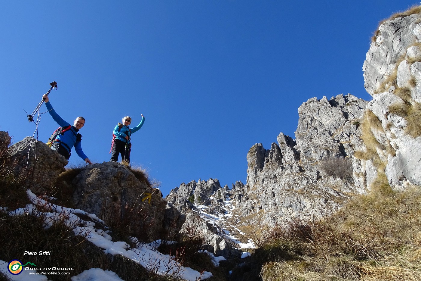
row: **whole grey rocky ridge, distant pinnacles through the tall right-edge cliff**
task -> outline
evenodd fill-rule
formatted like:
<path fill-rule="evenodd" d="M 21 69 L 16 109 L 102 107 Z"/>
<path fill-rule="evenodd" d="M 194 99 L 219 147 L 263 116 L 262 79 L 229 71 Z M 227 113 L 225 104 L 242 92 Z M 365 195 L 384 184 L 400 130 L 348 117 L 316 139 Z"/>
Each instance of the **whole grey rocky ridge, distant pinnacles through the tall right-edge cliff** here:
<path fill-rule="evenodd" d="M 233 208 L 224 212 L 232 218 L 224 227 L 246 229 L 325 216 L 349 193 L 379 184 L 392 189 L 421 185 L 420 14 L 421 8 L 414 8 L 395 15 L 376 32 L 363 65 L 364 86 L 373 100 L 352 95 L 309 99 L 298 108 L 295 139 L 281 132 L 270 149 L 261 143 L 250 148 L 245 185 L 228 189 L 218 183 L 200 193 L 191 182 L 167 198 L 181 212 L 202 212 L 212 226 L 218 220 L 209 215 L 221 213 L 228 200 Z M 225 199 L 216 200 L 216 192 Z M 235 245 L 230 234 L 218 232 Z"/>

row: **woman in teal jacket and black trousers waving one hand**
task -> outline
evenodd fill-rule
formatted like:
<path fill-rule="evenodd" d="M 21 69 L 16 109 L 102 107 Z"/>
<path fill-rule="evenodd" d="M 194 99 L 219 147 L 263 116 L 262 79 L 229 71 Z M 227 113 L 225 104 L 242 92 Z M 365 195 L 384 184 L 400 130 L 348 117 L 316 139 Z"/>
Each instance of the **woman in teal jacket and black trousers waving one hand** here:
<path fill-rule="evenodd" d="M 115 135 L 115 138 L 112 141 L 111 144 L 111 160 L 117 162 L 118 160 L 118 154 L 121 154 L 121 160 L 126 161 L 130 164 L 130 150 L 131 150 L 131 143 L 130 143 L 130 136 L 134 132 L 137 132 L 145 122 L 145 117 L 143 114 L 142 121 L 134 128 L 129 128 L 129 125 L 131 124 L 131 117 L 125 116 L 121 122 L 118 123 L 117 126 L 115 126 L 113 134 Z"/>

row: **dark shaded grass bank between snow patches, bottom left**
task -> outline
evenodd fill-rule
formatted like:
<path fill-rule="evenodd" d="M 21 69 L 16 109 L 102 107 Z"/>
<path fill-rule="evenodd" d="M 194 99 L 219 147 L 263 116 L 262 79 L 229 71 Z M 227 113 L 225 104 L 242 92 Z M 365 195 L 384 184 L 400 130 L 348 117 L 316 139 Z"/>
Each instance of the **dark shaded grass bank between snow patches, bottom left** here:
<path fill-rule="evenodd" d="M 0 257 L 6 261 L 24 261 L 28 259 L 24 251 L 38 253 L 42 250 L 53 254 L 31 256 L 30 261 L 38 267 L 75 267 L 71 272 L 73 275 L 91 267 L 107 268 L 108 258 L 104 251 L 85 240 L 85 237 L 75 236 L 72 228 L 63 221 L 55 222 L 46 230 L 45 219 L 45 215 L 37 211 L 21 216 L 2 213 L 0 240 L 4 243 L 0 248 Z M 66 218 L 63 216 L 61 219 Z M 49 276 L 51 280 L 70 280 L 70 277 Z"/>

